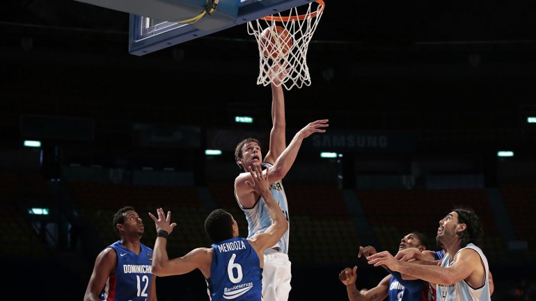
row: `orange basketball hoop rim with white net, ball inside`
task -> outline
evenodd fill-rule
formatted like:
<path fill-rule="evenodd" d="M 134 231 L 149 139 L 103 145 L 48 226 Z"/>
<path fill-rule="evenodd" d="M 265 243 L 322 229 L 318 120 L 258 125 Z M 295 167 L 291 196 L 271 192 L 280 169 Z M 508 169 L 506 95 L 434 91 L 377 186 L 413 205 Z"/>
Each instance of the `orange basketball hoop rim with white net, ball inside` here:
<path fill-rule="evenodd" d="M 248 34 L 255 35 L 259 49 L 257 84 L 274 83 L 287 90 L 310 86 L 306 56 L 324 13 L 324 1 L 316 0 L 283 13 L 248 22 Z"/>

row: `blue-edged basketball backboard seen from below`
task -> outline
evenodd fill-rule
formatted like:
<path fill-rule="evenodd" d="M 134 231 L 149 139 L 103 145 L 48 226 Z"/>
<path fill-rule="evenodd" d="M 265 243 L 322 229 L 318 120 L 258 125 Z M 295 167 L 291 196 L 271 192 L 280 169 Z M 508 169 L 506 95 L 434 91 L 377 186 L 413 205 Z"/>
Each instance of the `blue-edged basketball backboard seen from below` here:
<path fill-rule="evenodd" d="M 297 6 L 302 6 L 314 0 L 236 0 L 238 3 L 237 17 L 221 26 L 210 29 L 200 29 L 199 26 L 166 22 L 159 19 L 130 14 L 129 53 L 143 56 L 154 51 L 171 47 L 182 42 L 210 35 L 217 31 L 229 29 L 232 26 L 283 12 Z M 217 7 L 216 7 L 217 10 Z M 192 16 L 194 17 L 194 16 Z M 246 29 L 244 29 L 246 31 Z"/>

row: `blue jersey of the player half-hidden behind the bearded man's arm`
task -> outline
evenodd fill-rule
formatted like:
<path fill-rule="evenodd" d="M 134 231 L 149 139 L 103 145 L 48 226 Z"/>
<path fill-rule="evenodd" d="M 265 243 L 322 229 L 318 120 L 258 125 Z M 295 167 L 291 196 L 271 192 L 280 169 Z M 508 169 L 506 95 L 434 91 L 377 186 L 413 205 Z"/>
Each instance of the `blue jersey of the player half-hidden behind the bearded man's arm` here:
<path fill-rule="evenodd" d="M 393 275 L 389 280 L 388 298 L 389 301 L 427 301 L 428 300 L 428 282 L 421 279 L 404 280 L 400 272 L 393 272 L 387 269 Z"/>

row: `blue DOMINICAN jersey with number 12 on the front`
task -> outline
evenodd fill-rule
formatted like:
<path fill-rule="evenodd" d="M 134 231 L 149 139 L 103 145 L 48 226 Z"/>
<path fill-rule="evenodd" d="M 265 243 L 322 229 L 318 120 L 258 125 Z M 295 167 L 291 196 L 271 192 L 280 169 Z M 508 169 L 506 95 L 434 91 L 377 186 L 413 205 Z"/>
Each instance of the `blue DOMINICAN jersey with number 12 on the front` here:
<path fill-rule="evenodd" d="M 152 249 L 141 245 L 139 255 L 128 250 L 121 241 L 109 245 L 116 250 L 116 272 L 108 277 L 102 290 L 102 301 L 146 301 L 152 279 Z"/>

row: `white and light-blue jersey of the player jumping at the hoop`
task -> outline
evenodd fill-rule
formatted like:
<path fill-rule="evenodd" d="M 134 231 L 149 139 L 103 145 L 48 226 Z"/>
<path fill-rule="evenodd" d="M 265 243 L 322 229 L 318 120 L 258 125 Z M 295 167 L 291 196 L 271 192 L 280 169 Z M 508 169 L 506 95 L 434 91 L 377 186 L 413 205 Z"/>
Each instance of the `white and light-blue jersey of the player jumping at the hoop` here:
<path fill-rule="evenodd" d="M 262 166 L 271 168 L 270 163 L 262 163 Z M 285 214 L 285 217 L 287 218 L 287 222 L 289 221 L 288 218 L 288 205 L 287 205 L 287 196 L 285 195 L 285 190 L 283 189 L 283 184 L 281 184 L 281 181 L 276 181 L 274 184 L 270 185 L 270 191 L 271 195 L 274 196 L 274 200 L 276 200 L 276 203 L 279 204 L 281 207 L 281 210 L 283 211 L 283 214 Z M 238 202 L 237 193 L 235 191 L 235 198 Z M 253 236 L 256 233 L 263 233 L 270 227 L 271 225 L 271 218 L 268 214 L 268 211 L 265 209 L 265 200 L 262 199 L 262 197 L 259 197 L 259 200 L 253 206 L 251 209 L 244 209 L 242 208 L 242 205 L 240 202 L 238 202 L 238 206 L 240 206 L 240 209 L 244 211 L 244 214 L 246 215 L 246 220 L 248 221 L 248 238 Z M 290 224 L 289 229 L 283 234 L 281 239 L 274 245 L 274 247 L 278 247 L 280 252 L 283 252 L 285 254 L 288 254 L 288 234 L 290 231 Z"/>

